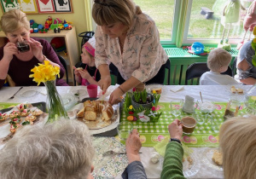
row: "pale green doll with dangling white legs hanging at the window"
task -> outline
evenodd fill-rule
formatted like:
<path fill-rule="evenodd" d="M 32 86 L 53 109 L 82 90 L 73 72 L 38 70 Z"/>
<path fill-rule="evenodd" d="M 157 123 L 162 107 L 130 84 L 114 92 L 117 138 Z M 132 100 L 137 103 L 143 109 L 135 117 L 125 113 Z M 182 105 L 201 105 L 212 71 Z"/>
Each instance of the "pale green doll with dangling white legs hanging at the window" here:
<path fill-rule="evenodd" d="M 240 20 L 240 9 L 245 10 L 240 0 L 229 0 L 223 9 L 223 14 L 221 17 L 221 24 L 224 26 L 224 30 L 222 33 L 222 38 L 220 43 L 218 43 L 218 48 L 225 49 L 227 51 L 231 50 L 231 46 L 229 43 L 229 33 L 230 33 L 230 26 L 239 26 Z M 228 29 L 227 38 L 224 41 L 224 33 L 226 28 Z"/>

